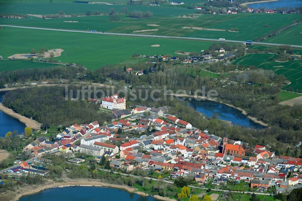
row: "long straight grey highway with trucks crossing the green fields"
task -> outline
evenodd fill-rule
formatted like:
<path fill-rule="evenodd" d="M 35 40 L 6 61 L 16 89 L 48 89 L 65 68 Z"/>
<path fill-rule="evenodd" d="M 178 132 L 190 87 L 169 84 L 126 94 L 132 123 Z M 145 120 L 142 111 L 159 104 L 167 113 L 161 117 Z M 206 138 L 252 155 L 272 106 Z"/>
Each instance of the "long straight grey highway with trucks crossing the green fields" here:
<path fill-rule="evenodd" d="M 66 31 L 66 32 L 76 32 L 76 33 L 86 33 L 86 34 L 104 34 L 104 35 L 117 35 L 117 36 L 132 36 L 132 37 L 146 37 L 146 38 L 168 38 L 168 39 L 186 39 L 186 40 L 201 40 L 201 41 L 223 41 L 228 43 L 245 43 L 246 41 L 239 40 L 219 40 L 219 39 L 211 39 L 211 38 L 194 38 L 194 37 L 177 37 L 177 36 L 156 36 L 156 35 L 141 35 L 141 34 L 120 34 L 120 33 L 101 33 L 101 32 L 90 32 L 90 31 L 81 31 L 81 30 L 70 30 L 70 29 L 52 29 L 52 28 L 40 28 L 40 27 L 24 27 L 24 26 L 15 26 L 15 25 L 0 25 L 2 27 L 15 27 L 15 28 L 26 28 L 26 29 L 39 29 L 39 30 L 51 30 L 51 31 Z M 253 42 L 253 44 L 259 45 L 274 45 L 281 46 L 284 44 L 277 43 L 261 43 L 261 42 Z M 291 47 L 300 47 L 300 45 L 291 45 Z"/>

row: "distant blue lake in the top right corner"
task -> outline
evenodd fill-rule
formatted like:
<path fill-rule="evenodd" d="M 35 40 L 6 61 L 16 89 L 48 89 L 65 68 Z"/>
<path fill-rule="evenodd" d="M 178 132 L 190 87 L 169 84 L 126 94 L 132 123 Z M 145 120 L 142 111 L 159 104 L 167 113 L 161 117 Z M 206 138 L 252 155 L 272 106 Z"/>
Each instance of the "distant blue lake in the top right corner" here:
<path fill-rule="evenodd" d="M 264 3 L 254 3 L 247 5 L 252 8 L 267 8 L 267 9 L 275 9 L 277 7 L 290 7 L 293 8 L 302 6 L 302 0 L 280 0 L 276 2 L 264 2 Z"/>

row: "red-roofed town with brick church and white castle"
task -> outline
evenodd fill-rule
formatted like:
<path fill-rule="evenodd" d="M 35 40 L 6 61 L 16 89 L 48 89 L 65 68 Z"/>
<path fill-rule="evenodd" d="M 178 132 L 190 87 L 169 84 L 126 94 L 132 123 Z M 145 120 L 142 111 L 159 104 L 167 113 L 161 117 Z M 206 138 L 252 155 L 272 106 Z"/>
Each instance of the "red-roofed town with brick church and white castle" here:
<path fill-rule="evenodd" d="M 126 99 L 117 94 L 102 100 L 89 99 L 111 110 L 113 121 L 100 125 L 74 124 L 53 140 L 40 136 L 24 147 L 30 161 L 16 161 L 1 179 L 18 180 L 21 172 L 48 175 L 47 155 L 68 154 L 69 163 L 86 163 L 81 154 L 110 162 L 112 170 L 145 169 L 165 172 L 165 180 L 192 178 L 199 186 L 241 192 L 288 192 L 302 183 L 302 159 L 269 151 L 265 145 L 248 145 L 194 128 L 189 122 L 169 114 L 166 106 L 137 106 L 126 109 Z M 44 131 L 44 133 L 47 131 Z M 41 134 L 42 135 L 42 134 Z M 108 163 L 109 163 L 108 162 Z M 167 174 L 166 174 L 167 173 Z"/>

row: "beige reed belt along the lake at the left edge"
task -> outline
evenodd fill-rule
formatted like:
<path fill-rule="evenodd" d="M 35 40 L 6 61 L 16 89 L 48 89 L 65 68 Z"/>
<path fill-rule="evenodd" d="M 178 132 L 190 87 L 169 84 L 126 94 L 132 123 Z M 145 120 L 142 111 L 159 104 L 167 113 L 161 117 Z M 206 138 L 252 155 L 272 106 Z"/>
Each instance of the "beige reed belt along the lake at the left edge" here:
<path fill-rule="evenodd" d="M 8 107 L 5 107 L 2 103 L 0 103 L 0 110 L 3 113 L 5 113 L 9 116 L 12 116 L 15 119 L 19 120 L 21 123 L 24 123 L 26 127 L 30 127 L 31 129 L 34 129 L 34 130 L 40 130 L 41 129 L 41 126 L 42 126 L 41 123 L 39 123 L 39 122 L 37 122 L 33 119 L 27 118 L 25 116 L 22 116 L 19 113 L 14 112 L 12 109 L 9 109 Z"/>

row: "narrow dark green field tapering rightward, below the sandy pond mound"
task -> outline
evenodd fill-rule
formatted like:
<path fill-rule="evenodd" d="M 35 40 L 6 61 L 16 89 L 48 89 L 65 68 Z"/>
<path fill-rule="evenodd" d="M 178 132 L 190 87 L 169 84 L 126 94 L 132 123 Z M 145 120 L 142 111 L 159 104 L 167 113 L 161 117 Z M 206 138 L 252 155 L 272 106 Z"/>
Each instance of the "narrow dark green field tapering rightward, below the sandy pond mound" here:
<path fill-rule="evenodd" d="M 58 65 L 61 64 L 31 62 L 31 61 L 22 61 L 22 60 L 12 60 L 12 61 L 0 60 L 0 72 L 29 69 L 29 68 L 47 68 L 47 67 L 55 67 Z"/>

